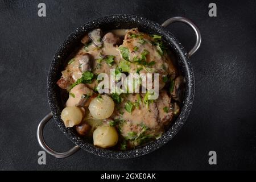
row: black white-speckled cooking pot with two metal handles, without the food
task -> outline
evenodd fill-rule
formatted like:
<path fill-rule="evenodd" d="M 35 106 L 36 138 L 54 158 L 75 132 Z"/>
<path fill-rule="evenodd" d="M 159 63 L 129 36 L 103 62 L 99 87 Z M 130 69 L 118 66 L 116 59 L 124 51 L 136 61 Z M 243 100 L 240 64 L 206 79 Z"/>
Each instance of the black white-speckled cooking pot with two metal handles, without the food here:
<path fill-rule="evenodd" d="M 164 28 L 173 22 L 184 22 L 195 31 L 196 44 L 189 53 L 185 51 L 179 40 L 177 40 L 175 36 L 171 34 L 171 32 Z M 134 27 L 138 27 L 140 31 L 146 32 L 148 34 L 162 35 L 162 39 L 164 43 L 166 43 L 166 46 L 168 46 L 171 51 L 174 52 L 179 69 L 185 77 L 185 94 L 183 104 L 181 105 L 181 112 L 179 114 L 179 117 L 177 117 L 176 120 L 172 122 L 170 128 L 158 140 L 154 140 L 144 146 L 139 146 L 133 150 L 127 151 L 114 151 L 99 148 L 93 146 L 93 144 L 90 143 L 88 140 L 80 138 L 74 129 L 66 128 L 64 126 L 64 123 L 60 118 L 61 110 L 63 110 L 63 104 L 60 98 L 60 88 L 59 86 L 57 86 L 56 82 L 61 76 L 61 71 L 64 69 L 64 61 L 74 51 L 74 48 L 76 48 L 76 46 L 80 43 L 82 36 L 84 36 L 87 32 L 95 28 L 101 28 L 102 30 L 107 31 L 119 28 L 127 29 Z M 189 115 L 189 111 L 191 110 L 194 98 L 195 78 L 193 75 L 193 69 L 189 57 L 197 51 L 197 49 L 200 47 L 200 43 L 201 35 L 199 29 L 195 26 L 195 24 L 191 22 L 191 20 L 183 17 L 170 18 L 166 20 L 166 22 L 164 22 L 161 26 L 160 24 L 152 22 L 151 20 L 135 15 L 110 15 L 92 20 L 77 28 L 77 30 L 73 31 L 64 41 L 64 43 L 61 44 L 55 56 L 53 57 L 51 67 L 49 68 L 47 93 L 49 106 L 51 107 L 51 113 L 46 115 L 46 117 L 44 117 L 39 123 L 37 137 L 40 146 L 46 152 L 48 152 L 48 154 L 51 154 L 56 158 L 65 158 L 67 156 L 70 156 L 80 148 L 92 154 L 104 156 L 107 158 L 135 158 L 137 156 L 148 154 L 149 152 L 152 152 L 157 148 L 163 146 L 165 143 L 171 140 L 180 130 Z M 55 119 L 55 122 L 60 127 L 61 131 L 63 131 L 63 133 L 73 143 L 76 144 L 76 146 L 73 147 L 71 150 L 67 152 L 56 152 L 49 148 L 44 142 L 43 128 L 44 125 L 46 125 L 46 123 L 52 117 Z"/>

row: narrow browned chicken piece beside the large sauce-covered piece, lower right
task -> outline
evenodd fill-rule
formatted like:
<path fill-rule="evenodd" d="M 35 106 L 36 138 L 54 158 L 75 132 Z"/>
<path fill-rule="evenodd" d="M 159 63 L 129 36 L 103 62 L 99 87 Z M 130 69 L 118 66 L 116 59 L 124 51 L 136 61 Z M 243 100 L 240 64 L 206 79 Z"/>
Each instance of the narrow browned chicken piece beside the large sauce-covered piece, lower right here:
<path fill-rule="evenodd" d="M 168 96 L 165 90 L 159 93 L 156 105 L 158 106 L 160 123 L 168 125 L 172 119 L 173 112 L 171 110 L 171 97 Z"/>

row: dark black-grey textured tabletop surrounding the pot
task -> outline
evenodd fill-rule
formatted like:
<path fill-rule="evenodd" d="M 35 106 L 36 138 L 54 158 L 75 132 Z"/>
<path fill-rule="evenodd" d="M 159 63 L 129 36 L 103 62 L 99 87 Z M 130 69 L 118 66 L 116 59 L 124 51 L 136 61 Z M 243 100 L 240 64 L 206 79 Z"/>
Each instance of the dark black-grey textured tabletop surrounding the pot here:
<path fill-rule="evenodd" d="M 46 17 L 38 3 L 46 3 Z M 210 2 L 217 17 L 208 16 Z M 0 1 L 0 169 L 256 169 L 255 1 Z M 191 57 L 195 101 L 187 122 L 165 146 L 140 158 L 106 159 L 80 150 L 67 159 L 47 155 L 38 164 L 36 127 L 49 113 L 46 81 L 58 46 L 81 24 L 110 14 L 135 14 L 162 23 L 192 19 L 203 37 Z M 189 49 L 195 42 L 184 24 L 168 27 Z M 45 129 L 49 146 L 73 143 L 55 122 Z M 217 152 L 217 165 L 208 152 Z"/>

